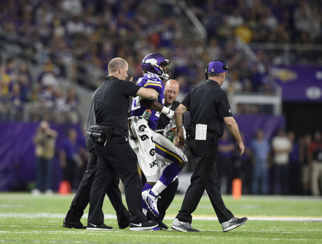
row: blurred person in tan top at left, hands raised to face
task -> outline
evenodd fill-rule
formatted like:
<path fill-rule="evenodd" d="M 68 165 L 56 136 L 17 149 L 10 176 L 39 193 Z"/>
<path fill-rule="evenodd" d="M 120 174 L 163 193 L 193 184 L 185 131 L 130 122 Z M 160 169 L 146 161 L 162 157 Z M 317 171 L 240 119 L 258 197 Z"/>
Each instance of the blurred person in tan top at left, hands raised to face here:
<path fill-rule="evenodd" d="M 36 188 L 32 194 L 46 192 L 52 194 L 52 168 L 55 155 L 57 132 L 49 127 L 46 121 L 40 122 L 33 138 L 36 154 Z"/>

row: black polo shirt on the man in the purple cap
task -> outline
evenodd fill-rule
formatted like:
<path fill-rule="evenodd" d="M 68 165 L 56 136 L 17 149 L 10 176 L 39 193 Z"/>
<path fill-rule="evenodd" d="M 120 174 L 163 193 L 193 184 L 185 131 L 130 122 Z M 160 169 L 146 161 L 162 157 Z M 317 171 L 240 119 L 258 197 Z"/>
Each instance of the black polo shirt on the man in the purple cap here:
<path fill-rule="evenodd" d="M 181 102 L 190 112 L 190 125 L 206 124 L 208 132 L 224 134 L 223 117 L 233 116 L 227 94 L 214 80 L 206 80 L 195 88 Z"/>

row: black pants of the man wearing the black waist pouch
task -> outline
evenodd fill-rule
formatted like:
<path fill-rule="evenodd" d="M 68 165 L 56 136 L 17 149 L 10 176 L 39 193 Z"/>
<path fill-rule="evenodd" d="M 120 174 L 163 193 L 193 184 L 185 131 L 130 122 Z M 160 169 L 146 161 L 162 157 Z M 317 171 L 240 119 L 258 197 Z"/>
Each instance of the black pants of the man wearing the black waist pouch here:
<path fill-rule="evenodd" d="M 130 222 L 146 221 L 142 212 L 141 182 L 137 158 L 124 136 L 112 137 L 106 146 L 94 143 L 97 154 L 97 173 L 89 196 L 88 223 L 101 224 L 104 221 L 102 206 L 106 186 L 115 175 L 125 185 L 125 198 L 130 212 Z"/>

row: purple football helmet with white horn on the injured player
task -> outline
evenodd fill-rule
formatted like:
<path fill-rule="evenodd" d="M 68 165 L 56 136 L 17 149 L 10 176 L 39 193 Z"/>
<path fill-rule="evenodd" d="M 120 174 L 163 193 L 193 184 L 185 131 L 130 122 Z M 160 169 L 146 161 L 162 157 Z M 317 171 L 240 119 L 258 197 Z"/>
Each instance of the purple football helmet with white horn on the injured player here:
<path fill-rule="evenodd" d="M 141 63 L 143 73 L 150 73 L 159 75 L 164 79 L 171 79 L 173 76 L 173 70 L 168 69 L 170 61 L 165 58 L 161 53 L 152 52 L 147 54 Z"/>

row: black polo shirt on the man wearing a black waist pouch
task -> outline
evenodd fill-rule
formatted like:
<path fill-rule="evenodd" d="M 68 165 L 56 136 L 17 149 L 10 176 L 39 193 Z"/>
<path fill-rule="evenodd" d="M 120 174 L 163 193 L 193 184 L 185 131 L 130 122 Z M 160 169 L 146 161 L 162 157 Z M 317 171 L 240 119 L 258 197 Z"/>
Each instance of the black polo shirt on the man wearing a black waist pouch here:
<path fill-rule="evenodd" d="M 113 76 L 106 77 L 93 95 L 89 109 L 91 115 L 88 114 L 88 117 L 97 125 L 109 125 L 127 130 L 129 96 L 135 97 L 140 88 L 131 81 L 119 80 Z"/>

